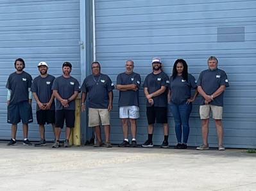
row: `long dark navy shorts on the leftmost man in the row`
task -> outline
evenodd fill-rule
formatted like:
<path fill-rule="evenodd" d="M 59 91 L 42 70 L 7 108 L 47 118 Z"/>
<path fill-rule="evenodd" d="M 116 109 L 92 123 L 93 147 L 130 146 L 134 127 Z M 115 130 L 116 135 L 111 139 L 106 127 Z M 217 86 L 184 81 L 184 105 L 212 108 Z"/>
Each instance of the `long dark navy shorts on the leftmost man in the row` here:
<path fill-rule="evenodd" d="M 7 107 L 7 122 L 17 124 L 33 122 L 32 107 L 28 101 L 10 104 Z"/>

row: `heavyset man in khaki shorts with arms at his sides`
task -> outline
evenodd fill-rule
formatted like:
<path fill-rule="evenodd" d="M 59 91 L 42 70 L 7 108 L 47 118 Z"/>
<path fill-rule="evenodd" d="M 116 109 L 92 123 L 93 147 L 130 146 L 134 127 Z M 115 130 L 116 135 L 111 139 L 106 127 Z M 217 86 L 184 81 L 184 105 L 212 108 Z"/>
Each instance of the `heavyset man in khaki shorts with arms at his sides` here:
<path fill-rule="evenodd" d="M 83 80 L 81 86 L 81 111 L 85 111 L 85 100 L 88 94 L 89 107 L 89 127 L 95 127 L 97 142 L 94 147 L 103 146 L 101 139 L 101 127 L 105 130 L 105 147 L 111 148 L 110 143 L 110 111 L 113 108 L 113 92 L 114 84 L 110 77 L 101 73 L 101 65 L 97 61 L 93 62 L 92 75 Z"/>

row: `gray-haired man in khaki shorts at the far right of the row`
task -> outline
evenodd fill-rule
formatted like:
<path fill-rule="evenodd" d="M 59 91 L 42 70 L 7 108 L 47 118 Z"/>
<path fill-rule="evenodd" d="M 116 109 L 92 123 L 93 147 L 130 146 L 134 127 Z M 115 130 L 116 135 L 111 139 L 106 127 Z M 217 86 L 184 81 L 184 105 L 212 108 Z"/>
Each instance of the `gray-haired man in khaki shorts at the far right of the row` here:
<path fill-rule="evenodd" d="M 209 149 L 208 134 L 209 134 L 209 118 L 212 111 L 212 118 L 215 120 L 215 125 L 218 134 L 219 151 L 225 150 L 223 146 L 223 95 L 226 87 L 229 86 L 226 72 L 218 68 L 218 59 L 210 56 L 208 59 L 209 69 L 200 73 L 198 79 L 198 92 L 201 95 L 200 100 L 200 118 L 202 125 L 203 144 L 198 150 Z"/>

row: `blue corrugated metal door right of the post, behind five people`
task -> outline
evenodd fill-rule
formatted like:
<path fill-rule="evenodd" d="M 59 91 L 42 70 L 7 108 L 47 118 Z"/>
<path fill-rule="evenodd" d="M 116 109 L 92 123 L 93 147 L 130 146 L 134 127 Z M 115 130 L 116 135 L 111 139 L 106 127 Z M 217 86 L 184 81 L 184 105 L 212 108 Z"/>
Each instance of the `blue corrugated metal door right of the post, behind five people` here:
<path fill-rule="evenodd" d="M 207 58 L 217 56 L 219 68 L 228 73 L 224 107 L 225 145 L 256 147 L 256 3 L 255 1 L 107 1 L 96 0 L 96 57 L 102 72 L 115 82 L 126 59 L 135 61 L 142 80 L 151 72 L 151 57 L 160 56 L 164 71 L 171 74 L 175 59 L 182 57 L 189 72 L 198 78 L 207 68 Z M 112 112 L 113 142 L 123 140 L 118 118 L 118 92 Z M 138 122 L 140 143 L 147 138 L 146 106 L 141 96 Z M 198 105 L 191 115 L 189 145 L 201 144 Z M 174 123 L 169 114 L 170 144 L 176 144 Z M 162 142 L 162 128 L 155 128 L 153 141 Z M 210 124 L 209 142 L 217 145 Z"/>

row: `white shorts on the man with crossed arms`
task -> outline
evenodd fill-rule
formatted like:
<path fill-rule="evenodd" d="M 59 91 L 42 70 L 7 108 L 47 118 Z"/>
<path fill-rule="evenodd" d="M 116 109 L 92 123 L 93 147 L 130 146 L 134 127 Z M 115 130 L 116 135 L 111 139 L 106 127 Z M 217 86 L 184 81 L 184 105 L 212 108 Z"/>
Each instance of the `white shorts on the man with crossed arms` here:
<path fill-rule="evenodd" d="M 140 114 L 138 106 L 132 105 L 119 107 L 119 118 L 121 119 L 138 119 L 139 116 Z"/>

